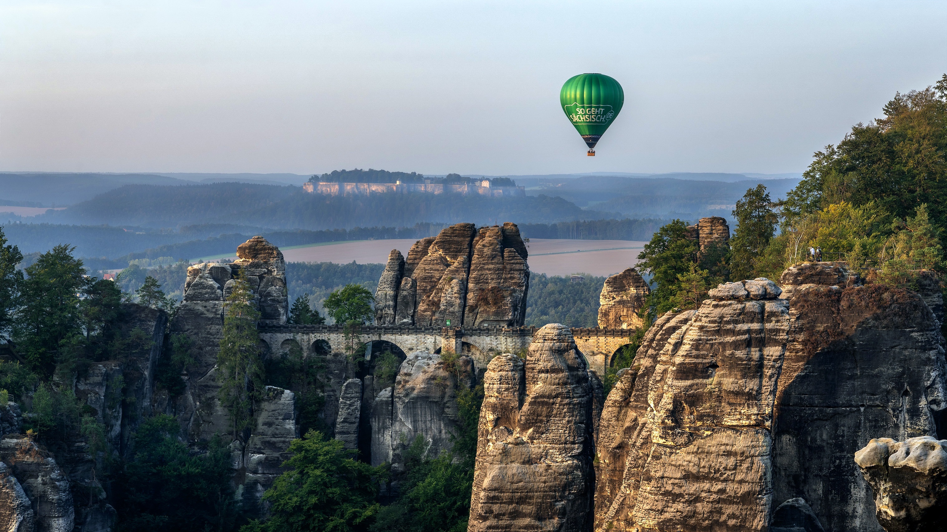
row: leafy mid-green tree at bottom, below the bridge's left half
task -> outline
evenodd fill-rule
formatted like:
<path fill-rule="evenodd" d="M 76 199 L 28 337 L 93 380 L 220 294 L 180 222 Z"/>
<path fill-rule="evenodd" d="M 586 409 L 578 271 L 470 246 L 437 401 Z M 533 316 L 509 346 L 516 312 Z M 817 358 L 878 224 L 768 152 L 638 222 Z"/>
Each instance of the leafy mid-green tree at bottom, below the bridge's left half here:
<path fill-rule="evenodd" d="M 310 431 L 295 439 L 283 462 L 286 472 L 266 490 L 271 517 L 245 525 L 242 532 L 356 532 L 367 530 L 378 513 L 375 502 L 383 468 L 355 459 L 337 439 Z"/>

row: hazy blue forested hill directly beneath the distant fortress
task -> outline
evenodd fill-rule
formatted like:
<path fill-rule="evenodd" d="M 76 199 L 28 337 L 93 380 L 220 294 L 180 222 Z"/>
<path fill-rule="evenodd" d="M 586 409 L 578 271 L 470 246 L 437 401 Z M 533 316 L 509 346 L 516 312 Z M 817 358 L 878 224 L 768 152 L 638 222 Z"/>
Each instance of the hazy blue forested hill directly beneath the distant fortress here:
<path fill-rule="evenodd" d="M 215 183 L 196 186 L 122 186 L 35 222 L 176 227 L 232 223 L 273 229 L 349 229 L 411 226 L 418 222 L 564 222 L 615 218 L 545 195 L 491 198 L 455 194 L 381 194 L 326 197 L 295 186 Z"/>

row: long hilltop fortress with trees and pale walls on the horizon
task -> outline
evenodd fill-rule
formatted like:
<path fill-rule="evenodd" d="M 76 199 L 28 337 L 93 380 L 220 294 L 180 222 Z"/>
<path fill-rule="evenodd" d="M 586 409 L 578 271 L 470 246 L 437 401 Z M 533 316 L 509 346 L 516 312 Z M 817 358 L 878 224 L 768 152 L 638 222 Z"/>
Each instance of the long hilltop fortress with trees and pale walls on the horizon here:
<path fill-rule="evenodd" d="M 506 177 L 472 178 L 451 173 L 446 177 L 424 177 L 417 172 L 392 172 L 368 168 L 334 170 L 313 175 L 303 189 L 327 196 L 360 196 L 390 192 L 429 194 L 480 194 L 491 197 L 526 196 L 523 186 Z"/>

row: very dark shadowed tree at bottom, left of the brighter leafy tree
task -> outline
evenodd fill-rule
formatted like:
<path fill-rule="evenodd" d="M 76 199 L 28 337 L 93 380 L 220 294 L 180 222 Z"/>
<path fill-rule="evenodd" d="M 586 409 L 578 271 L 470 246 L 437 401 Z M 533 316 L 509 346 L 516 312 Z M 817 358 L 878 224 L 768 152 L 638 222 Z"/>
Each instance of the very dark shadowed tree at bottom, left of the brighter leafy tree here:
<path fill-rule="evenodd" d="M 134 434 L 134 459 L 113 481 L 119 530 L 205 532 L 236 528 L 230 452 L 219 437 L 204 454 L 178 438 L 172 416 L 146 419 Z"/>

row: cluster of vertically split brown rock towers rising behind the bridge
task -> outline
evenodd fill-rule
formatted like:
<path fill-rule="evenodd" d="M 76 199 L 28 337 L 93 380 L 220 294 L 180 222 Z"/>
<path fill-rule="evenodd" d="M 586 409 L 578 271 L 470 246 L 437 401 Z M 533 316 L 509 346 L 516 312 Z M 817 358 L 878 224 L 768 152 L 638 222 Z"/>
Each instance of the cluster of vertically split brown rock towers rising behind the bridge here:
<path fill-rule="evenodd" d="M 526 319 L 527 249 L 515 223 L 457 223 L 392 250 L 379 280 L 379 325 L 519 326 Z"/>

